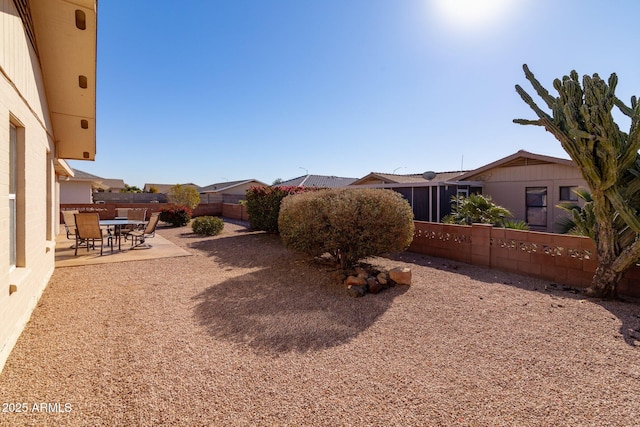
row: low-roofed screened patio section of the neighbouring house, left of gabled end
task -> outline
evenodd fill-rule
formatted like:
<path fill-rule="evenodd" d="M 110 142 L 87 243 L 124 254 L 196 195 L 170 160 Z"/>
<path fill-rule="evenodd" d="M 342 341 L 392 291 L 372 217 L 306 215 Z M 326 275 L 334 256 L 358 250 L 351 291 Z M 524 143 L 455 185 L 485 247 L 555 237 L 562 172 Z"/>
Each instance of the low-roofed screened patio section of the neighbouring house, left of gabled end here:
<path fill-rule="evenodd" d="M 416 220 L 440 222 L 451 212 L 452 196 L 482 192 L 481 183 L 460 182 L 463 173 L 457 171 L 396 175 L 371 172 L 354 181 L 351 186 L 390 188 L 409 201 Z"/>

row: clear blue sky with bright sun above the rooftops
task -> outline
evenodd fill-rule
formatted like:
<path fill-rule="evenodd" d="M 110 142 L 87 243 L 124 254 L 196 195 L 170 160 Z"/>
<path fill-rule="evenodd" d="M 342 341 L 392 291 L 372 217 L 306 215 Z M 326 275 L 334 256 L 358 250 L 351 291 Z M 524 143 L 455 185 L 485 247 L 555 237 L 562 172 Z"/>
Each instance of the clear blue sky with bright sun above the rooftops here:
<path fill-rule="evenodd" d="M 100 1 L 96 161 L 70 164 L 142 187 L 568 158 L 512 123 L 534 118 L 522 64 L 552 93 L 571 70 L 615 72 L 629 103 L 638 16 L 635 0 Z"/>

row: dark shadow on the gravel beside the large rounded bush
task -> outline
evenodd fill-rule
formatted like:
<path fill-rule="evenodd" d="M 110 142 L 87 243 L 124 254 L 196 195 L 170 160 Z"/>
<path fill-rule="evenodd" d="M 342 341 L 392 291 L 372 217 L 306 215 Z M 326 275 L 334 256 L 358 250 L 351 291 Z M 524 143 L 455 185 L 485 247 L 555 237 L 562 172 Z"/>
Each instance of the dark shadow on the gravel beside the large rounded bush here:
<path fill-rule="evenodd" d="M 377 295 L 350 297 L 333 270 L 288 251 L 270 234 L 236 234 L 190 247 L 228 267 L 228 278 L 194 297 L 197 320 L 212 336 L 261 354 L 345 344 L 407 290 L 396 286 Z"/>

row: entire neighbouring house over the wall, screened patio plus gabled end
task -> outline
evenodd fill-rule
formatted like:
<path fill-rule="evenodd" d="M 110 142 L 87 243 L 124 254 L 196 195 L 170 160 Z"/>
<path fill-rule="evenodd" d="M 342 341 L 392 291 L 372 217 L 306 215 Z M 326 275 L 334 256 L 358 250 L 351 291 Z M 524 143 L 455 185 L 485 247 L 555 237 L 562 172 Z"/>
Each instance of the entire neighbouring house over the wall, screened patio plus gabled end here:
<path fill-rule="evenodd" d="M 531 230 L 546 232 L 557 231 L 558 220 L 566 216 L 556 205 L 577 201 L 574 188 L 588 188 L 572 160 L 523 150 L 472 171 L 371 173 L 352 185 L 393 189 L 409 201 L 416 220 L 432 222 L 451 212 L 452 196 L 484 194 Z"/>

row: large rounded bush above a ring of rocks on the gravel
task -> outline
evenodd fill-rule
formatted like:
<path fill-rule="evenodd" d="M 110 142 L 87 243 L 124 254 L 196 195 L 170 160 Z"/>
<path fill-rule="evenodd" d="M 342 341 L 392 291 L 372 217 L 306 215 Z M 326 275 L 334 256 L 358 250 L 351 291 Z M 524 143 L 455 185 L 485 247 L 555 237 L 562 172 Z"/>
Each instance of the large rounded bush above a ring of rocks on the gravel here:
<path fill-rule="evenodd" d="M 286 247 L 331 255 L 343 269 L 369 256 L 406 249 L 413 211 L 402 196 L 383 189 L 333 189 L 282 201 L 278 218 Z"/>

